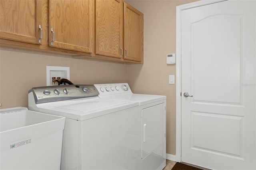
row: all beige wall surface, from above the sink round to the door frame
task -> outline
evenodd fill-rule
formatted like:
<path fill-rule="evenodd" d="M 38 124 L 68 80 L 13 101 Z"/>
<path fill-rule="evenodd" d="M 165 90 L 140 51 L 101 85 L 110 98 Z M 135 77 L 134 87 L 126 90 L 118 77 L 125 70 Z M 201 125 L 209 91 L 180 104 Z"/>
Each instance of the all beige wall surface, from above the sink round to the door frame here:
<path fill-rule="evenodd" d="M 176 53 L 176 6 L 194 1 L 124 0 L 144 14 L 144 64 L 75 59 L 71 53 L 1 43 L 0 109 L 28 107 L 28 91 L 46 86 L 46 66 L 69 67 L 74 84 L 128 83 L 133 93 L 166 96 L 166 153 L 175 160 L 176 84 L 169 84 L 169 75 L 175 81 L 176 64 L 167 64 L 166 55 Z"/>

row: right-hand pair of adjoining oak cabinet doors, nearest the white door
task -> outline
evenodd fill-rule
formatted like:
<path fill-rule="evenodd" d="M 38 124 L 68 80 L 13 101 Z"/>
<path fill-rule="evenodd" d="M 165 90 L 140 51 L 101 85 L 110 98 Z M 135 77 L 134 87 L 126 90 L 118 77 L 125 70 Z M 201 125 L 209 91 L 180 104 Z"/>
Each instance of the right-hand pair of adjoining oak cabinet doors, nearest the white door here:
<path fill-rule="evenodd" d="M 122 0 L 96 0 L 97 55 L 143 63 L 143 14 Z"/>

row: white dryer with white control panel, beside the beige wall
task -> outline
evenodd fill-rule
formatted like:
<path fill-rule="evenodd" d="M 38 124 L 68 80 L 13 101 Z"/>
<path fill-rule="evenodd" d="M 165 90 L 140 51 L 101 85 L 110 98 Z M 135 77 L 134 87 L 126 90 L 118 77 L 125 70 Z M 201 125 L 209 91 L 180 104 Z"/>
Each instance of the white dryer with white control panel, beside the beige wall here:
<path fill-rule="evenodd" d="M 140 169 L 166 166 L 166 96 L 132 93 L 128 83 L 95 84 L 101 99 L 135 101 L 140 115 Z"/>

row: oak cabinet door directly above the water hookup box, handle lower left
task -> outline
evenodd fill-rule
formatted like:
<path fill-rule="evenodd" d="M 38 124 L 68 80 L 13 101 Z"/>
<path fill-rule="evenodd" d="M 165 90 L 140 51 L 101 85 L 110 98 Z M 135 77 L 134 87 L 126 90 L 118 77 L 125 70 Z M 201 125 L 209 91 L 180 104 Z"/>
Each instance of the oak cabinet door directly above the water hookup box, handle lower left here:
<path fill-rule="evenodd" d="M 49 0 L 49 45 L 92 52 L 93 0 Z"/>

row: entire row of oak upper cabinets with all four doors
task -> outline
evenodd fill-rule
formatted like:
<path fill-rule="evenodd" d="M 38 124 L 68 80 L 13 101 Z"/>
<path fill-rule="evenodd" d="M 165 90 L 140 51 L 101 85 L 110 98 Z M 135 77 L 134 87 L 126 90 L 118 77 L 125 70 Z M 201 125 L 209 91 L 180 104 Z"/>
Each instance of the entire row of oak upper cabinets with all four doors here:
<path fill-rule="evenodd" d="M 143 63 L 143 14 L 124 0 L 0 0 L 0 43 Z"/>

